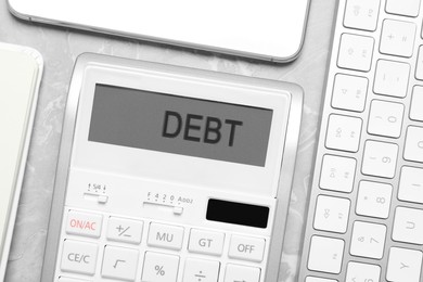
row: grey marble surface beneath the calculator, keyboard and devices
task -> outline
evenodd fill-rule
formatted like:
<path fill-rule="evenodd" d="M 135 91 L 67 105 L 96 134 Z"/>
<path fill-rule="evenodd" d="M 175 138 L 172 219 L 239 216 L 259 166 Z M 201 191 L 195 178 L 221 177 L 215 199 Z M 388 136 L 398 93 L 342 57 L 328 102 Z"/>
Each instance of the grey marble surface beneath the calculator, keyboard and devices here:
<path fill-rule="evenodd" d="M 306 41 L 300 57 L 291 64 L 274 65 L 30 24 L 9 14 L 5 0 L 1 0 L 0 41 L 33 47 L 41 52 L 46 64 L 5 281 L 40 281 L 67 88 L 74 62 L 82 52 L 285 80 L 296 82 L 305 89 L 303 127 L 279 279 L 286 282 L 296 281 L 300 234 L 305 223 L 309 176 L 312 169 L 336 0 L 311 2 Z"/>

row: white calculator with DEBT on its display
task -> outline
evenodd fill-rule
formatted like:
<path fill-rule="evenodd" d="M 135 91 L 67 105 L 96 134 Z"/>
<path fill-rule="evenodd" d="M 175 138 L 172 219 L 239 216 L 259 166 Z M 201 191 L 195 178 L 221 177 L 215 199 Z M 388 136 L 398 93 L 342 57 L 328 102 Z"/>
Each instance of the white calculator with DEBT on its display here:
<path fill-rule="evenodd" d="M 277 281 L 302 100 L 291 84 L 81 55 L 41 281 Z"/>

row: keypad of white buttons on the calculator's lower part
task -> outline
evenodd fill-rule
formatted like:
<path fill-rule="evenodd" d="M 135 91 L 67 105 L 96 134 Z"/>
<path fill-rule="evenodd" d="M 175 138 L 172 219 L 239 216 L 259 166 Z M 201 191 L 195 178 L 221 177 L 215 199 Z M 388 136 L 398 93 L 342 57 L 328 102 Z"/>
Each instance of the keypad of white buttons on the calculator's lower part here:
<path fill-rule="evenodd" d="M 60 270 L 70 275 L 59 281 L 261 281 L 264 238 L 75 209 L 65 218 Z"/>

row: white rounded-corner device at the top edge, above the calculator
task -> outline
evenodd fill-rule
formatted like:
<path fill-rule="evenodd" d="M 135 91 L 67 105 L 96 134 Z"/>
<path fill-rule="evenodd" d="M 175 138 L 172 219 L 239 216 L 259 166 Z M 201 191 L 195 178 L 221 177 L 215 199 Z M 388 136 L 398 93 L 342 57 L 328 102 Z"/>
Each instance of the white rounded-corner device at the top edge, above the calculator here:
<path fill-rule="evenodd" d="M 9 0 L 17 17 L 274 62 L 303 46 L 309 0 Z"/>

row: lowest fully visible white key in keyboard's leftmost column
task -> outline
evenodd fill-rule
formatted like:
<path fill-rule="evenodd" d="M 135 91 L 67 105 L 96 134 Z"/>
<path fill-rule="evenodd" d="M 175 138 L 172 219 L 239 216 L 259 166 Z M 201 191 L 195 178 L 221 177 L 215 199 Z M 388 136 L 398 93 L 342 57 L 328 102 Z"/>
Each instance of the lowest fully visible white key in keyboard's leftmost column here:
<path fill-rule="evenodd" d="M 344 255 L 344 241 L 339 239 L 312 236 L 308 256 L 308 269 L 339 273 Z"/>

